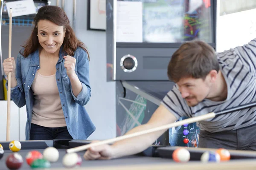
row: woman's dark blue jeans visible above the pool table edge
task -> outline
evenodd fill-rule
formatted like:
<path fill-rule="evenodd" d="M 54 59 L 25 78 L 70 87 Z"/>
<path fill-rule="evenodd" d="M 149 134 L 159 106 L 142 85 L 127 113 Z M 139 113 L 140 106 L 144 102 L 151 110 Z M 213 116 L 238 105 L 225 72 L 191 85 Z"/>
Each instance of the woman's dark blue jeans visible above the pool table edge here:
<path fill-rule="evenodd" d="M 31 124 L 29 140 L 73 139 L 67 127 L 44 127 Z"/>

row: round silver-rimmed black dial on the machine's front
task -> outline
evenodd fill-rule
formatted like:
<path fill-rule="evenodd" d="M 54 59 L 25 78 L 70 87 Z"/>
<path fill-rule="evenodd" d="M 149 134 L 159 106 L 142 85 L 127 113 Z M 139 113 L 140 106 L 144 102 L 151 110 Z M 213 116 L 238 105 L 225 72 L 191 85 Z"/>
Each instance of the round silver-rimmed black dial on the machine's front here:
<path fill-rule="evenodd" d="M 138 66 L 138 61 L 133 55 L 127 54 L 121 58 L 120 66 L 123 71 L 131 73 L 136 70 Z"/>

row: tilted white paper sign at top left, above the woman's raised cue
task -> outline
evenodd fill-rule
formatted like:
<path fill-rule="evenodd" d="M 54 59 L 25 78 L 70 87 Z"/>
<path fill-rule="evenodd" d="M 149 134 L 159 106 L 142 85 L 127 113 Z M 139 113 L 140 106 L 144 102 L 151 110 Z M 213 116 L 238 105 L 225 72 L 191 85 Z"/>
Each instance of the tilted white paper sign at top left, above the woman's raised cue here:
<path fill-rule="evenodd" d="M 10 8 L 12 8 L 12 17 L 35 14 L 35 4 L 33 0 L 17 0 L 6 3 L 8 16 L 10 17 Z"/>

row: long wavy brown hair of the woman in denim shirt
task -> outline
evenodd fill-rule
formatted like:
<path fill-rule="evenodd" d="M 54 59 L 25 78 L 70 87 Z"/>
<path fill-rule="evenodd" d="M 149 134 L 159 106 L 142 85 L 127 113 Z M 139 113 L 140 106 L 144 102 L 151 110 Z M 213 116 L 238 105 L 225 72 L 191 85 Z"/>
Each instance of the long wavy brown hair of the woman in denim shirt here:
<path fill-rule="evenodd" d="M 35 15 L 34 23 L 35 27 L 33 28 L 32 34 L 30 35 L 29 39 L 26 41 L 23 51 L 23 56 L 28 57 L 29 54 L 36 51 L 39 47 L 41 47 L 39 41 L 38 41 L 38 22 L 40 20 L 48 20 L 52 23 L 55 23 L 58 26 L 64 26 L 64 31 L 66 31 L 66 37 L 64 38 L 63 45 L 64 45 L 64 51 L 70 55 L 74 56 L 74 52 L 76 51 L 76 48 L 81 47 L 83 48 L 87 54 L 88 59 L 89 53 L 84 45 L 83 42 L 79 41 L 73 29 L 70 26 L 70 21 L 64 12 L 64 10 L 58 6 L 43 6 L 39 8 L 38 13 Z"/>

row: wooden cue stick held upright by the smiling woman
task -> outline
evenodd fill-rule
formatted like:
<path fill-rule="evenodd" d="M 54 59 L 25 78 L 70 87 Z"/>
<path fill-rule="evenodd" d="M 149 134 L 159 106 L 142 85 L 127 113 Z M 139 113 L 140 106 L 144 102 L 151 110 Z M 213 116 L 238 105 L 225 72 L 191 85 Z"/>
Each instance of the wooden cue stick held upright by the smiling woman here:
<path fill-rule="evenodd" d="M 12 57 L 12 8 L 9 11 L 9 57 Z M 8 74 L 6 141 L 10 141 L 11 124 L 11 73 Z"/>

